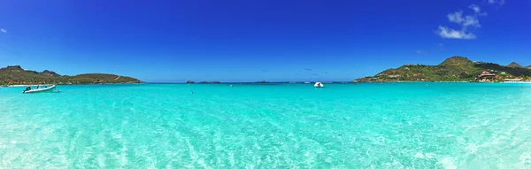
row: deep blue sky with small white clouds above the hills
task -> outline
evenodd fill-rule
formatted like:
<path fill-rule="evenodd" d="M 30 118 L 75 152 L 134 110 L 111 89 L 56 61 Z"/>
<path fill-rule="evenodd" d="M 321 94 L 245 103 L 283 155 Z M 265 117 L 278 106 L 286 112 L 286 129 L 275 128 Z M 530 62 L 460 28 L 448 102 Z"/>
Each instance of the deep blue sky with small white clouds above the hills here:
<path fill-rule="evenodd" d="M 142 81 L 351 81 L 454 55 L 531 65 L 527 0 L 25 1 L 0 65 Z"/>

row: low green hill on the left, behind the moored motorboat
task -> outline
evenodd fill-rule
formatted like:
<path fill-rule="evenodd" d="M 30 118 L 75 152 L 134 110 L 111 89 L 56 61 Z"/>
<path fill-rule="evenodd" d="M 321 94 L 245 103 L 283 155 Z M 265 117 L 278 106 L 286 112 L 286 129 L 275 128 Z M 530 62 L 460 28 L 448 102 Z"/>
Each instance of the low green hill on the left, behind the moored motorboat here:
<path fill-rule="evenodd" d="M 105 73 L 86 73 L 63 76 L 44 70 L 41 73 L 24 70 L 19 65 L 0 68 L 0 84 L 89 84 L 89 83 L 139 83 L 135 78 Z"/>

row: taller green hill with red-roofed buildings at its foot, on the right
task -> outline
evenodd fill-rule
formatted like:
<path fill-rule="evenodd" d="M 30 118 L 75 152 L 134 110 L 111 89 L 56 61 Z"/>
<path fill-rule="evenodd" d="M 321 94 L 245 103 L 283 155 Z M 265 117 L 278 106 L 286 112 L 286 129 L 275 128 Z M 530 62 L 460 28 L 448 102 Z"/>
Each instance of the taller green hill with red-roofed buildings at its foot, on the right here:
<path fill-rule="evenodd" d="M 473 62 L 456 56 L 447 58 L 439 65 L 402 65 L 355 81 L 473 81 L 482 71 L 496 73 L 498 79 L 531 77 L 531 69 Z"/>

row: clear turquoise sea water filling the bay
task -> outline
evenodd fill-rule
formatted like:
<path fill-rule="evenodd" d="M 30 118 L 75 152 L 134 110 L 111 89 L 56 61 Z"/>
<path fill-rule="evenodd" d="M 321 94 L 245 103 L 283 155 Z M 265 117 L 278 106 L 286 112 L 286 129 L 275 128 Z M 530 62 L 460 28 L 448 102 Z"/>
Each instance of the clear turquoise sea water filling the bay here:
<path fill-rule="evenodd" d="M 0 168 L 531 168 L 529 84 L 325 85 L 0 88 Z"/>

